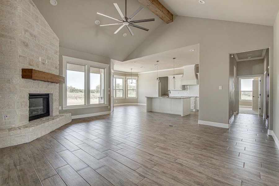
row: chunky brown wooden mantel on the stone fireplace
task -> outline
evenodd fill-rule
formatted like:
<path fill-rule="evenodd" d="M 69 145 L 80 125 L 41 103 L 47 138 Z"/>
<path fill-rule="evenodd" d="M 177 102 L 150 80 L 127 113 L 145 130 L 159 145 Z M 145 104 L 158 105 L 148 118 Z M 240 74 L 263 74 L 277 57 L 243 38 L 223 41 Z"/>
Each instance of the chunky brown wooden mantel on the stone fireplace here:
<path fill-rule="evenodd" d="M 51 83 L 65 83 L 65 77 L 35 69 L 21 69 L 21 78 Z"/>

